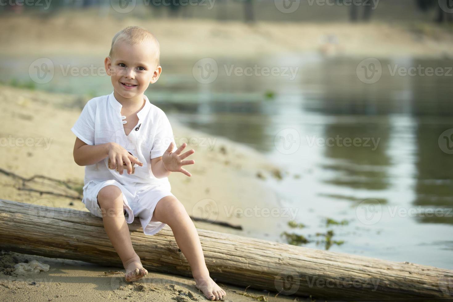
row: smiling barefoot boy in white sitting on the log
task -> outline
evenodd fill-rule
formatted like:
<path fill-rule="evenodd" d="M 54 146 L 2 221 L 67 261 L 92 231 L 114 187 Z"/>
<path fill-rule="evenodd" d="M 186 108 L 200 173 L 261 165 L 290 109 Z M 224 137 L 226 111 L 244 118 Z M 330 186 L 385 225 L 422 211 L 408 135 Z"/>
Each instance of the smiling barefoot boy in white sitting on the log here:
<path fill-rule="evenodd" d="M 113 37 L 104 64 L 114 91 L 88 101 L 71 129 L 77 136 L 74 161 L 86 166 L 82 202 L 102 218 L 126 281 L 148 273 L 127 226 L 139 217 L 146 235 L 170 226 L 197 288 L 208 299 L 219 300 L 226 292 L 209 277 L 195 226 L 168 181 L 171 172 L 191 176 L 183 166 L 195 161 L 184 158 L 195 151 L 181 154 L 187 144 L 176 148 L 164 111 L 144 95 L 162 72 L 159 55 L 159 42 L 146 29 L 127 27 Z"/>

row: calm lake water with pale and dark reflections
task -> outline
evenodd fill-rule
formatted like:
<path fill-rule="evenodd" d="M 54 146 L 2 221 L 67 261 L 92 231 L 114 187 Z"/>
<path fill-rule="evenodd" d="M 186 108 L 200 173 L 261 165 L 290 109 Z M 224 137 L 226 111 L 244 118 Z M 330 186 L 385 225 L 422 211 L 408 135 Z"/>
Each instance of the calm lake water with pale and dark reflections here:
<path fill-rule="evenodd" d="M 219 74 L 211 84 L 194 79 L 197 60 L 162 60 L 164 73 L 146 94 L 170 118 L 248 144 L 282 164 L 289 176 L 266 182 L 287 198 L 287 206 L 300 210 L 296 222 L 307 227 L 298 234 L 334 230 L 334 239 L 344 244 L 331 250 L 453 268 L 453 155 L 438 143 L 439 135 L 453 128 L 452 77 L 392 76 L 388 68 L 451 67 L 453 62 L 380 60 L 381 79 L 364 84 L 356 74 L 361 60 L 316 54 L 255 62 L 217 59 Z M 27 78 L 23 61 L 5 61 L 0 62 L 0 80 L 5 75 Z M 255 64 L 299 71 L 294 80 L 225 72 L 232 65 Z M 52 82 L 37 88 L 102 95 L 111 92 L 111 83 L 108 77 L 61 77 L 56 72 Z M 290 154 L 274 143 L 284 129 L 294 129 L 300 144 Z M 376 205 L 371 214 L 379 219 L 367 220 L 370 213 L 358 211 L 370 210 L 366 204 Z M 349 223 L 326 227 L 323 221 L 329 217 Z M 281 230 L 253 235 L 265 238 L 269 233 L 282 241 L 281 232 L 295 231 L 284 227 L 287 222 L 282 219 Z"/>

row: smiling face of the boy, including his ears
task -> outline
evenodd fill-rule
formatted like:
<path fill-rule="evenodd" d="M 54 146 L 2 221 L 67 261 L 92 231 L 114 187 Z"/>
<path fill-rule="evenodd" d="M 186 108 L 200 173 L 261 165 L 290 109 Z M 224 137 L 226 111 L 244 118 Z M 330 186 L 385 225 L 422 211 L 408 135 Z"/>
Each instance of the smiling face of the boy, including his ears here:
<path fill-rule="evenodd" d="M 112 58 L 104 61 L 106 72 L 111 76 L 114 90 L 124 98 L 143 95 L 149 83 L 158 80 L 162 67 L 156 66 L 154 43 L 130 45 L 118 41 Z M 130 86 L 132 84 L 133 86 Z"/>

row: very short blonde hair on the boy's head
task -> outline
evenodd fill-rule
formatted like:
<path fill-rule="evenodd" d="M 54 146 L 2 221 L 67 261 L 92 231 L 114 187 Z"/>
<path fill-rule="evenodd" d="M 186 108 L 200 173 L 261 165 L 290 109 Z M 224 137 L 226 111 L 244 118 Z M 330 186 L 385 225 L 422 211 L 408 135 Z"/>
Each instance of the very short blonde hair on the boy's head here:
<path fill-rule="evenodd" d="M 143 43 L 145 41 L 154 43 L 156 45 L 156 50 L 157 50 L 157 53 L 156 53 L 157 65 L 156 66 L 160 65 L 159 41 L 156 39 L 154 34 L 152 34 L 148 29 L 144 29 L 139 26 L 128 26 L 125 29 L 122 29 L 119 32 L 117 32 L 112 39 L 112 44 L 111 44 L 110 53 L 109 53 L 110 58 L 112 58 L 112 55 L 113 55 L 113 46 L 115 46 L 115 44 L 120 40 L 125 40 L 127 43 L 130 43 L 132 45 Z"/>

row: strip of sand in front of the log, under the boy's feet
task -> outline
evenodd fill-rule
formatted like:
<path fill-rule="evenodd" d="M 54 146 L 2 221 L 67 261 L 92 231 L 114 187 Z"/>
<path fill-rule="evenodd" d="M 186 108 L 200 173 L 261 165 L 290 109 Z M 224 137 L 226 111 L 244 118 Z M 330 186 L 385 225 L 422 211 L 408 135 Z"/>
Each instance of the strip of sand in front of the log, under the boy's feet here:
<path fill-rule="evenodd" d="M 47 272 L 15 274 L 7 266 L 37 260 L 48 264 Z M 0 255 L 0 299 L 2 301 L 208 301 L 193 279 L 149 272 L 136 282 L 125 282 L 124 270 L 82 261 L 2 252 Z M 222 301 L 306 301 L 267 291 L 219 283 L 226 291 Z M 251 296 L 244 296 L 244 293 Z"/>

